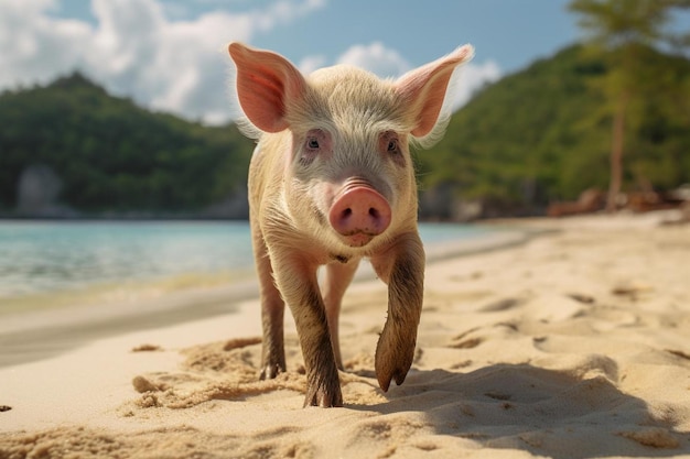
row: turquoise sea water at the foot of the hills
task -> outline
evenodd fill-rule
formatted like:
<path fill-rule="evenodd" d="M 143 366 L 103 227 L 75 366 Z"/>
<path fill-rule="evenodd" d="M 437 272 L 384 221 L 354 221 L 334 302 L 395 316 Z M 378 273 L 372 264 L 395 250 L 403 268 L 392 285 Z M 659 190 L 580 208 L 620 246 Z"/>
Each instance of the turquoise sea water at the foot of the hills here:
<path fill-rule="evenodd" d="M 481 238 L 473 226 L 420 225 L 425 244 Z M 97 285 L 252 269 L 247 222 L 0 221 L 0 302 Z"/>

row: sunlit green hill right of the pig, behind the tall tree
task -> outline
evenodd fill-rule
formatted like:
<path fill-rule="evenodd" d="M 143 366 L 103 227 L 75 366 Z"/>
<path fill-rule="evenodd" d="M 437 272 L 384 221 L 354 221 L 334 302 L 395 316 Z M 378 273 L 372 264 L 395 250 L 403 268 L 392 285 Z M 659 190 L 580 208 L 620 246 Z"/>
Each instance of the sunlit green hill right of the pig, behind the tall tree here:
<path fill-rule="evenodd" d="M 650 89 L 626 124 L 627 190 L 690 182 L 690 61 L 646 53 Z M 423 215 L 452 218 L 470 204 L 535 214 L 606 189 L 612 121 L 600 81 L 610 61 L 571 46 L 484 88 L 417 155 Z"/>

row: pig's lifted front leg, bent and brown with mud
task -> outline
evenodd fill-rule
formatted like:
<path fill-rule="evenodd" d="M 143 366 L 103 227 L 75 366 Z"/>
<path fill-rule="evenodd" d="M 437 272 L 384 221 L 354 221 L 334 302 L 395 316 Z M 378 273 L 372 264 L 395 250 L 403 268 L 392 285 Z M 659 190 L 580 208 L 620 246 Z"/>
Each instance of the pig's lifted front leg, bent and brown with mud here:
<path fill-rule="evenodd" d="M 388 318 L 376 347 L 376 378 L 384 391 L 391 380 L 402 384 L 414 358 L 422 312 L 424 249 L 416 232 L 405 234 L 386 253 L 371 259 L 388 284 Z"/>

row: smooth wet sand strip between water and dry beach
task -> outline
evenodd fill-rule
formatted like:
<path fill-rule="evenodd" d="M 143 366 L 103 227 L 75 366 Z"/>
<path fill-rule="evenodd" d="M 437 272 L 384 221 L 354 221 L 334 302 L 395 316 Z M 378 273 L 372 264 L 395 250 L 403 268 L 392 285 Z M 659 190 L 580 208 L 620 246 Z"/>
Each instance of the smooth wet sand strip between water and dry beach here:
<path fill-rule="evenodd" d="M 484 225 L 490 228 L 490 226 Z M 542 230 L 497 229 L 495 232 L 470 239 L 438 242 L 425 247 L 427 262 L 439 261 L 487 251 L 502 250 L 527 242 Z M 203 320 L 238 314 L 237 304 L 258 299 L 258 282 L 254 269 L 236 273 L 239 280 L 230 284 L 186 287 L 164 291 L 152 298 L 111 300 L 82 298 L 72 306 L 47 306 L 19 313 L 0 314 L 0 369 L 53 358 L 98 339 L 145 329 L 164 328 L 186 321 Z M 353 283 L 373 281 L 376 274 L 370 264 L 362 263 Z M 157 289 L 164 282 L 143 282 L 134 292 L 148 287 Z M 88 289 L 84 291 L 85 293 Z M 140 292 L 141 293 L 141 292 Z M 69 292 L 66 292 L 69 299 Z M 77 292 L 78 297 L 79 292 Z M 138 296 L 138 295 L 134 295 Z M 139 295 L 145 296 L 145 295 Z M 36 295 L 36 298 L 50 294 Z M 289 312 L 285 316 L 290 316 Z M 290 318 L 289 318 L 290 319 Z M 257 321 L 260 320 L 257 315 Z"/>

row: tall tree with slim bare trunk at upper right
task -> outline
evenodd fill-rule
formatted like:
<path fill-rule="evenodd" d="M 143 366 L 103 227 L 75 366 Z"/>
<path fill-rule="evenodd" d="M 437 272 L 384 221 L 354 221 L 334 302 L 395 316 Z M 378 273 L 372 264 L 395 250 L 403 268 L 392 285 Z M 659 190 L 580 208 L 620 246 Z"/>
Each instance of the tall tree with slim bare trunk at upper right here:
<path fill-rule="evenodd" d="M 623 183 L 626 119 L 635 98 L 654 91 L 654 76 L 645 72 L 649 47 L 679 50 L 690 45 L 690 33 L 670 30 L 672 12 L 690 8 L 690 0 L 572 0 L 569 9 L 581 15 L 591 45 L 612 53 L 613 68 L 603 81 L 612 114 L 611 177 L 606 208 L 616 209 Z"/>

